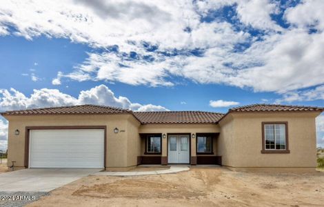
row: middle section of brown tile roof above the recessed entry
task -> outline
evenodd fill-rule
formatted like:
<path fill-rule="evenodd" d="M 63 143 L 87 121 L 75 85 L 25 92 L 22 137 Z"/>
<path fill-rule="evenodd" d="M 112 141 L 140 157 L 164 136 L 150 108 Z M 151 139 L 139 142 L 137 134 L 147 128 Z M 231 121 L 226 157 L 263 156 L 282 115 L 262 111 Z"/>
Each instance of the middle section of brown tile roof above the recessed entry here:
<path fill-rule="evenodd" d="M 216 124 L 224 114 L 202 111 L 134 112 L 142 124 Z"/>

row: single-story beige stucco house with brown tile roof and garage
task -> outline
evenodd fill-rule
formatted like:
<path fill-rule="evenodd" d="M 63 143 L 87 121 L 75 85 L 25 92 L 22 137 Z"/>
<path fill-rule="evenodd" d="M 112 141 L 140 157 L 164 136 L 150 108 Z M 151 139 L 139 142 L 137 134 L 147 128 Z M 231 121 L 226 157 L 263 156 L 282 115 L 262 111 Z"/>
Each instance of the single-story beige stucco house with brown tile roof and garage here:
<path fill-rule="evenodd" d="M 2 112 L 8 166 L 105 168 L 219 164 L 235 169 L 316 167 L 323 108 L 254 104 L 226 114 L 132 112 L 82 105 Z"/>

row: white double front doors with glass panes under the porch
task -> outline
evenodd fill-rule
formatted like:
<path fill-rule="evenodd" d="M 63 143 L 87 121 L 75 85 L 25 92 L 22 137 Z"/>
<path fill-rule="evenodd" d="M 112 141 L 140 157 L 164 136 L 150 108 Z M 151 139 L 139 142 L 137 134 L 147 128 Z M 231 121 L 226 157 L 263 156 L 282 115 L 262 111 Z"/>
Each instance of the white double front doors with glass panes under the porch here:
<path fill-rule="evenodd" d="M 189 135 L 170 135 L 168 163 L 189 164 Z"/>

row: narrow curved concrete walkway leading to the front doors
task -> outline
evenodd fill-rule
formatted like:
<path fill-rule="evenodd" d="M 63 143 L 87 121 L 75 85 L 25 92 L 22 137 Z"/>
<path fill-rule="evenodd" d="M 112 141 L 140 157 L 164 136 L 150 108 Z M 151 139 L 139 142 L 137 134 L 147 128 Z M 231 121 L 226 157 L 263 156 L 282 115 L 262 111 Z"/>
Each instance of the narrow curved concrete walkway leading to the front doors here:
<path fill-rule="evenodd" d="M 168 170 L 154 170 L 154 171 L 143 171 L 143 172 L 95 172 L 92 175 L 108 175 L 108 176 L 137 176 L 137 175 L 159 175 L 176 173 L 190 170 L 188 166 L 170 166 Z"/>

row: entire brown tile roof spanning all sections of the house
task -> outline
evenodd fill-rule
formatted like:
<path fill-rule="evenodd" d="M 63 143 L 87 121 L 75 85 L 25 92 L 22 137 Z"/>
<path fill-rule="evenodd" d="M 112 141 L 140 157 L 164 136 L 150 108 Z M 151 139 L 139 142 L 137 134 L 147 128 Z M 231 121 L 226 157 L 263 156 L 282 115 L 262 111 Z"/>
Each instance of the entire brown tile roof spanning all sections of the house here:
<path fill-rule="evenodd" d="M 253 104 L 231 108 L 230 112 L 322 112 L 324 108 L 313 106 L 285 106 L 276 104 Z M 163 111 L 132 112 L 123 108 L 98 105 L 61 106 L 52 108 L 34 108 L 27 110 L 11 110 L 1 115 L 112 115 L 131 114 L 141 124 L 217 124 L 225 114 L 203 111 Z"/>

